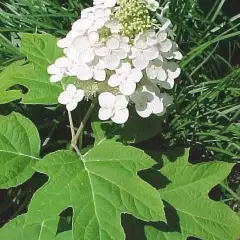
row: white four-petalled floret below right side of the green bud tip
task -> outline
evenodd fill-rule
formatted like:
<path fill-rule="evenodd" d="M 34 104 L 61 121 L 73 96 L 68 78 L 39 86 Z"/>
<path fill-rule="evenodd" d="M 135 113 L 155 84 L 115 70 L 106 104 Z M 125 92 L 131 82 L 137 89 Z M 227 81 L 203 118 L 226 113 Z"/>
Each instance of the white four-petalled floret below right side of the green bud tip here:
<path fill-rule="evenodd" d="M 150 33 L 149 33 L 150 34 Z M 149 36 L 150 38 L 150 36 Z M 155 45 L 148 44 L 146 34 L 141 34 L 135 39 L 134 46 L 131 48 L 133 65 L 136 68 L 144 69 L 149 64 L 150 60 L 158 57 L 159 51 Z"/>

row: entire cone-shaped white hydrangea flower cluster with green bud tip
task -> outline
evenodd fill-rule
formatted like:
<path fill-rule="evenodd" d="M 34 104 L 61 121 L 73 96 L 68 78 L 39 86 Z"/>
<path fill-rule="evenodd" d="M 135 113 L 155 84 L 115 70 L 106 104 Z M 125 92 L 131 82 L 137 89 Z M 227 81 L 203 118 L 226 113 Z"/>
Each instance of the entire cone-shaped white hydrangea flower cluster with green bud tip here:
<path fill-rule="evenodd" d="M 171 104 L 164 89 L 180 75 L 182 54 L 172 40 L 166 8 L 155 0 L 94 0 L 67 36 L 58 41 L 64 57 L 48 67 L 50 81 L 72 77 L 59 102 L 69 111 L 84 98 L 99 100 L 99 118 L 122 124 L 135 104 L 139 116 L 163 115 Z M 158 14 L 161 24 L 152 19 Z"/>

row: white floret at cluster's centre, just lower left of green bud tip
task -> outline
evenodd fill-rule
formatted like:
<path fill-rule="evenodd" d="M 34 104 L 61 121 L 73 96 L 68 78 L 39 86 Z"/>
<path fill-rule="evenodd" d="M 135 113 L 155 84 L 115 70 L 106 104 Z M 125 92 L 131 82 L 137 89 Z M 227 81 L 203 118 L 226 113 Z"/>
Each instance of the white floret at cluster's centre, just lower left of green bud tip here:
<path fill-rule="evenodd" d="M 127 37 L 121 37 L 118 34 L 107 38 L 106 46 L 108 54 L 104 58 L 104 64 L 107 69 L 115 70 L 119 67 L 120 61 L 128 56 L 128 52 L 130 51 L 128 41 Z"/>

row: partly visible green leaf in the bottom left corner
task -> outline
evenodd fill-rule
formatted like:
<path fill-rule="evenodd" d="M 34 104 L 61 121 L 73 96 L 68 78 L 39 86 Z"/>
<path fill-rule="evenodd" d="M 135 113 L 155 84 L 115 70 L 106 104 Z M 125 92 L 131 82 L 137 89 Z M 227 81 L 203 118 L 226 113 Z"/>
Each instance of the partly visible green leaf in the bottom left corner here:
<path fill-rule="evenodd" d="M 24 227 L 26 215 L 20 215 L 0 231 L 3 240 L 53 240 L 57 232 L 58 218 Z M 61 234 L 60 234 L 61 236 Z M 58 238 L 56 238 L 57 240 Z M 59 238 L 61 239 L 61 238 Z M 69 239 L 70 240 L 70 239 Z"/>

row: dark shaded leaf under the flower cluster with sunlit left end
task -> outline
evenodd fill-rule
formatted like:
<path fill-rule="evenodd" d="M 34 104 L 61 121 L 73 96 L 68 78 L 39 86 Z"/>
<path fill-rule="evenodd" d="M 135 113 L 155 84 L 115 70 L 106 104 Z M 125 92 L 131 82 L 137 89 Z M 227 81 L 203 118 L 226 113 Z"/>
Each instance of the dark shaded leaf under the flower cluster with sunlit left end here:
<path fill-rule="evenodd" d="M 95 136 L 95 144 L 105 139 L 116 139 L 125 143 L 137 143 L 156 136 L 162 129 L 162 117 L 155 115 L 148 119 L 137 115 L 135 109 L 131 109 L 128 121 L 121 126 L 111 121 L 92 121 Z"/>

